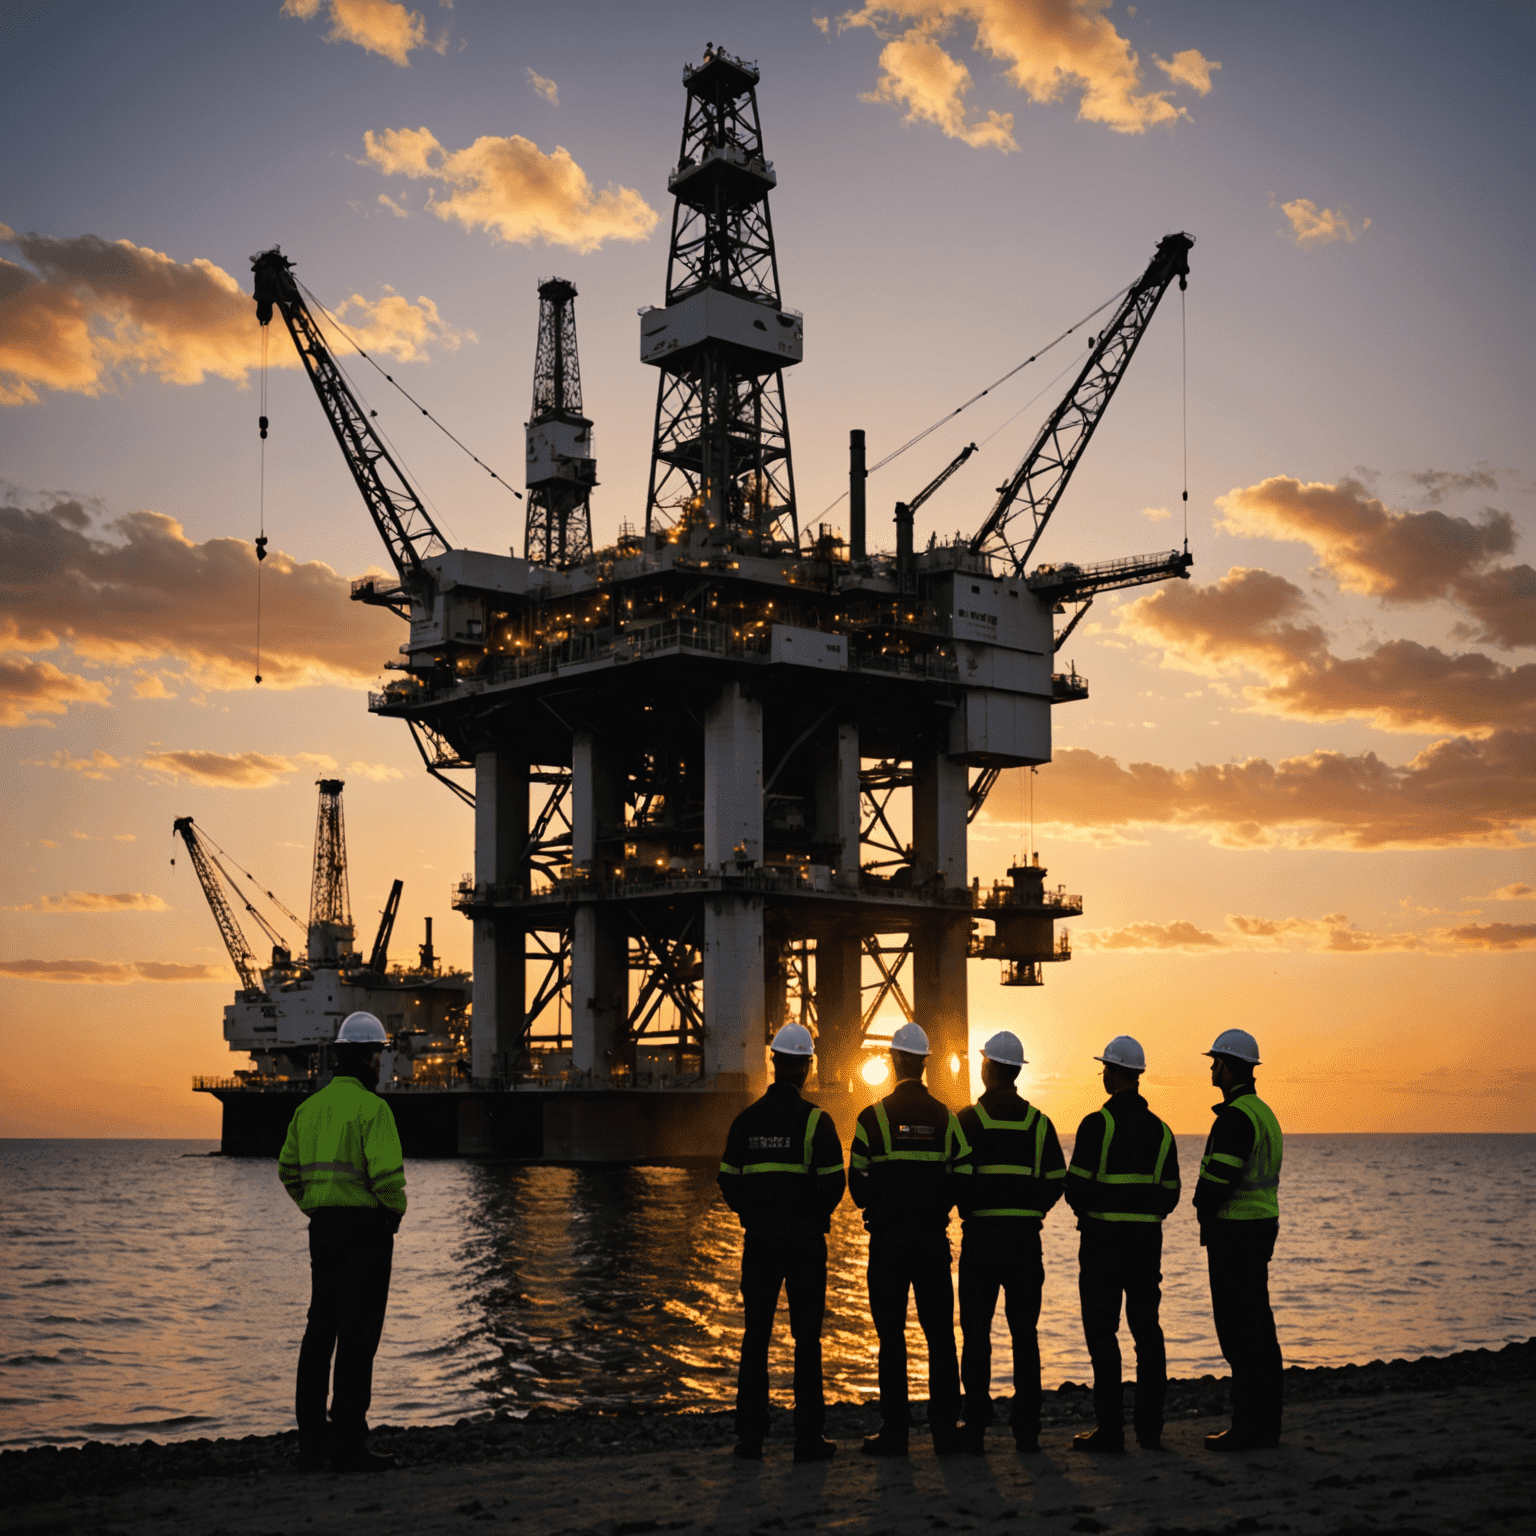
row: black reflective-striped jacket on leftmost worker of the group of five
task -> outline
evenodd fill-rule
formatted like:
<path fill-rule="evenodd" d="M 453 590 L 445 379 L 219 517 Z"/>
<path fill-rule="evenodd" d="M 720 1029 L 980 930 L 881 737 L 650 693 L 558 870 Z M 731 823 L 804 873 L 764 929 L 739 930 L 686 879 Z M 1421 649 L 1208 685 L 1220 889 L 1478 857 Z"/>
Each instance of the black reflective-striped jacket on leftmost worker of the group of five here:
<path fill-rule="evenodd" d="M 797 1087 L 770 1084 L 731 1123 L 720 1158 L 720 1193 L 754 1236 L 826 1232 L 845 1184 L 837 1126 Z"/>

